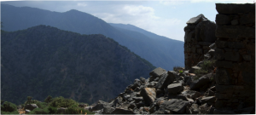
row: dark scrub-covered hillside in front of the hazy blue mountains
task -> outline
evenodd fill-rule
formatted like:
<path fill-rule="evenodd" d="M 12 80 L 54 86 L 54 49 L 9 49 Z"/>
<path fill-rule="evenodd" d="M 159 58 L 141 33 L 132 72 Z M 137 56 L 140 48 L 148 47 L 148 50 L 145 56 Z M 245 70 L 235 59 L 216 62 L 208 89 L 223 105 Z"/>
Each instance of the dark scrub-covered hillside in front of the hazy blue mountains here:
<path fill-rule="evenodd" d="M 147 60 L 100 34 L 51 26 L 0 33 L 0 99 L 20 104 L 30 95 L 93 103 L 108 101 L 154 69 Z"/>

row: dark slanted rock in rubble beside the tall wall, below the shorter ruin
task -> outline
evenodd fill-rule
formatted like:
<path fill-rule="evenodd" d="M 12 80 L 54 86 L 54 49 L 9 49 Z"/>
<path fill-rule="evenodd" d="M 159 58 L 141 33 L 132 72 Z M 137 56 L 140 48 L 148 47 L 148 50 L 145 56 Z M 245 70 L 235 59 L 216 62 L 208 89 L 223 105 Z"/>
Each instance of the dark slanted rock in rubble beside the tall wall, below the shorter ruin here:
<path fill-rule="evenodd" d="M 212 76 L 212 73 L 202 76 L 199 79 L 192 80 L 192 83 L 190 84 L 190 89 L 199 89 L 202 86 L 206 85 L 207 83 L 210 83 L 211 82 L 210 76 Z"/>

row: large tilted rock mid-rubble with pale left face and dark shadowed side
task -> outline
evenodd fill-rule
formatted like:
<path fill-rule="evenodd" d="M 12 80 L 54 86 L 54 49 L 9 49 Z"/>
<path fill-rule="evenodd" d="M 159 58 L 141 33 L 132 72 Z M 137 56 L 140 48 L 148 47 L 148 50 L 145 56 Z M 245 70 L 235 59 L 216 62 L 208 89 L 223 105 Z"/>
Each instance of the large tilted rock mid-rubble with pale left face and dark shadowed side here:
<path fill-rule="evenodd" d="M 157 89 L 164 89 L 168 86 L 168 84 L 173 83 L 176 79 L 177 73 L 174 71 L 168 71 L 164 73 L 161 77 L 159 82 L 156 84 L 155 88 Z"/>

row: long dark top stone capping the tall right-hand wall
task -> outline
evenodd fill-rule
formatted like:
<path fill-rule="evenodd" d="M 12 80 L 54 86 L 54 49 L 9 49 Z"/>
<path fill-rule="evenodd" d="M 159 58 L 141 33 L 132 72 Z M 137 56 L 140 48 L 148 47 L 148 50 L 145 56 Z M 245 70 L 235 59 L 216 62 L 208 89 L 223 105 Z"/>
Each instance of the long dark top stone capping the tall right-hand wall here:
<path fill-rule="evenodd" d="M 239 14 L 248 13 L 253 4 L 216 3 L 219 14 Z"/>

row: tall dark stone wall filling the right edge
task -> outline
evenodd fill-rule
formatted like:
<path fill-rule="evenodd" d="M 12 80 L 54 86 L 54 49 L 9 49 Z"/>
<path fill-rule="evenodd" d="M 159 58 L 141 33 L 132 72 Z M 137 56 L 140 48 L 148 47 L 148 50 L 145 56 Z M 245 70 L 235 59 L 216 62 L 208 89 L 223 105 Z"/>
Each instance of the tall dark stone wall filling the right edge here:
<path fill-rule="evenodd" d="M 216 3 L 216 108 L 256 103 L 256 5 Z"/>

